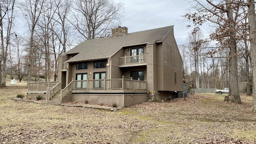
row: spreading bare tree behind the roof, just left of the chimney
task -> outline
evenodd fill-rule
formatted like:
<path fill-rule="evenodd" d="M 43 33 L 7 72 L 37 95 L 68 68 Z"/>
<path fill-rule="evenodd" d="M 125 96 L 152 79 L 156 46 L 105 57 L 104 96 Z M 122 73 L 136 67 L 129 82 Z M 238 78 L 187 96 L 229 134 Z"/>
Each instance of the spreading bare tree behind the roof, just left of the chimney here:
<path fill-rule="evenodd" d="M 123 14 L 123 4 L 112 0 L 75 0 L 72 24 L 84 40 L 109 36 Z"/>

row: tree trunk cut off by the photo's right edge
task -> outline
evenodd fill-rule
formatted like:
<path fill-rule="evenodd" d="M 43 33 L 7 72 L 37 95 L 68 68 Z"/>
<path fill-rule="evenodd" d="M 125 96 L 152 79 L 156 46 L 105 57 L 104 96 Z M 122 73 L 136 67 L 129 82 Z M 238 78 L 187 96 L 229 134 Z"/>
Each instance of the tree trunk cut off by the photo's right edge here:
<path fill-rule="evenodd" d="M 256 112 L 256 20 L 255 20 L 255 6 L 254 0 L 248 0 L 248 23 L 250 27 L 250 46 L 251 46 L 251 59 L 252 59 L 252 74 L 253 74 L 253 87 L 252 87 L 252 111 Z"/>

